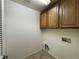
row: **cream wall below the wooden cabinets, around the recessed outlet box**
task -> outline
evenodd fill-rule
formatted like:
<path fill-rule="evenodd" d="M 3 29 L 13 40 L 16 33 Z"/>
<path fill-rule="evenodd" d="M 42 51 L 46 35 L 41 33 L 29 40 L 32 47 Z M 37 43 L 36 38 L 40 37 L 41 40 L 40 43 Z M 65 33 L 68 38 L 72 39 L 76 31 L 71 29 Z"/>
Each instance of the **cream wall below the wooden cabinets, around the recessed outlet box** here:
<path fill-rule="evenodd" d="M 71 44 L 63 42 L 62 37 L 71 38 Z M 79 59 L 79 29 L 44 30 L 43 40 L 57 59 Z"/>

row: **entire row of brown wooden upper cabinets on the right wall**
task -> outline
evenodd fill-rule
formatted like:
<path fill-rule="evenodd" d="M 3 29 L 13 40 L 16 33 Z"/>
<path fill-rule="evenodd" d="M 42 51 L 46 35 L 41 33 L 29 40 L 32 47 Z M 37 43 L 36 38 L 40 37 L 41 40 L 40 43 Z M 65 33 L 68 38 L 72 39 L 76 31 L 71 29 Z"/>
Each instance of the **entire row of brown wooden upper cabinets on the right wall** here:
<path fill-rule="evenodd" d="M 79 0 L 60 0 L 41 14 L 42 28 L 79 28 Z"/>

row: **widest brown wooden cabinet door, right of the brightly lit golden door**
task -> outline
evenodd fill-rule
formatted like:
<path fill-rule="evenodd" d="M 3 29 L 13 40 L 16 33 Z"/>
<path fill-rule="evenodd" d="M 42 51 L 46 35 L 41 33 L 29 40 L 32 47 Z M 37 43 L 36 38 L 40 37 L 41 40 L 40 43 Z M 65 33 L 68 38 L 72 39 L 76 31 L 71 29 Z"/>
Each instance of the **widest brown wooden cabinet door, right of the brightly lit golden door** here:
<path fill-rule="evenodd" d="M 75 27 L 76 25 L 76 0 L 61 0 L 61 27 Z M 60 10 L 60 11 L 61 11 Z"/>

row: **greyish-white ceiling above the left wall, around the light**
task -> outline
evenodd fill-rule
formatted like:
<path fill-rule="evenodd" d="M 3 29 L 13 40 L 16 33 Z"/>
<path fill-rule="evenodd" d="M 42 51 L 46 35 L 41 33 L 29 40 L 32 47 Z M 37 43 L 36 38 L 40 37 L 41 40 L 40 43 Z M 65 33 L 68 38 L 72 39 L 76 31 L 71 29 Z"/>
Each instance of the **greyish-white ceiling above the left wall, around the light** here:
<path fill-rule="evenodd" d="M 20 3 L 24 6 L 30 7 L 32 9 L 37 10 L 37 11 L 42 11 L 44 8 L 46 8 L 46 5 L 39 2 L 39 0 L 12 0 L 12 1 Z M 52 1 L 56 1 L 56 0 L 52 0 Z"/>

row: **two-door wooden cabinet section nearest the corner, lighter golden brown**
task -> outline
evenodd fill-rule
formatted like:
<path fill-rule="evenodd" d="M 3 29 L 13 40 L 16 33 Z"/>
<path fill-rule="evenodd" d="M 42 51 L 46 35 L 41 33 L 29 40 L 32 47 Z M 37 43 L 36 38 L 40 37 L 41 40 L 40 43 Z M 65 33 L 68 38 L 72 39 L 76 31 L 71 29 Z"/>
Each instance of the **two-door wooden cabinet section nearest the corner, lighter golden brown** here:
<path fill-rule="evenodd" d="M 58 28 L 58 5 L 41 14 L 41 28 Z"/>

